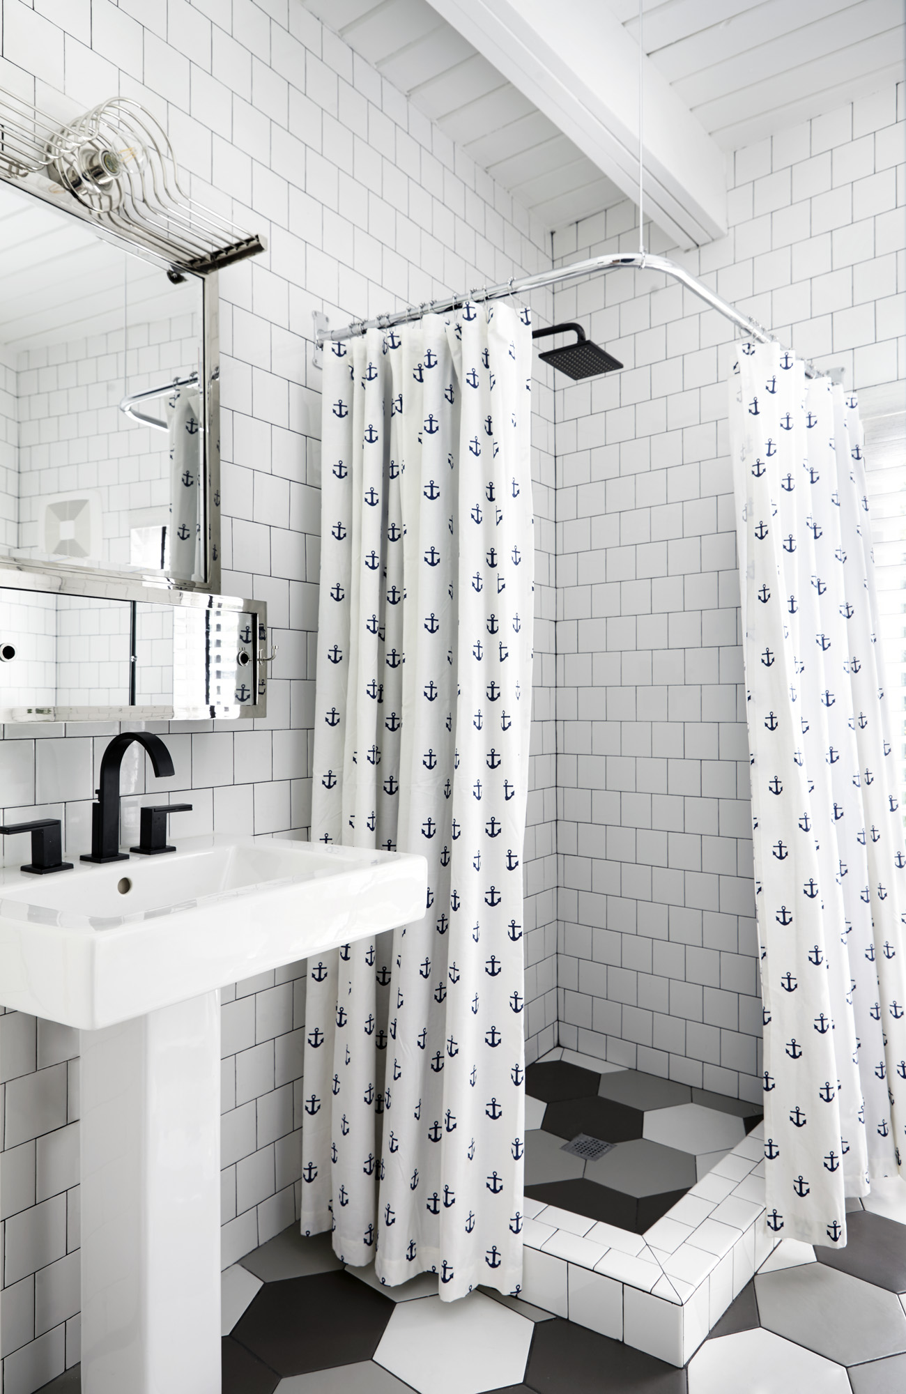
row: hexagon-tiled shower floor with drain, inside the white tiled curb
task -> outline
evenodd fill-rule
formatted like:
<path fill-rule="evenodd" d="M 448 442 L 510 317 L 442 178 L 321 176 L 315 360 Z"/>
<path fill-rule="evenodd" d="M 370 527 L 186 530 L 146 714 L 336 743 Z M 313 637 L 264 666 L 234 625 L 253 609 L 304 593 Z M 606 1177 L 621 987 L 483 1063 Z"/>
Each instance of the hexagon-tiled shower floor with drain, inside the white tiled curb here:
<path fill-rule="evenodd" d="M 544 1059 L 525 1071 L 525 1196 L 644 1234 L 761 1118 L 657 1075 Z M 565 1151 L 578 1135 L 612 1146 L 598 1160 Z"/>

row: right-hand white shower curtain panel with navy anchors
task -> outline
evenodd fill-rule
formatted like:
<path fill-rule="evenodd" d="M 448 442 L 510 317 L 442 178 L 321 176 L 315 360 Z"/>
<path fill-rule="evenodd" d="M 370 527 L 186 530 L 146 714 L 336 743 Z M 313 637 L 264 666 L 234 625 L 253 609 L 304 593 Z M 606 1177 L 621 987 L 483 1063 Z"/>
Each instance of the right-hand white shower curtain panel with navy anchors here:
<path fill-rule="evenodd" d="M 767 1223 L 842 1248 L 845 1196 L 906 1154 L 906 848 L 856 396 L 743 343 L 730 441 Z"/>

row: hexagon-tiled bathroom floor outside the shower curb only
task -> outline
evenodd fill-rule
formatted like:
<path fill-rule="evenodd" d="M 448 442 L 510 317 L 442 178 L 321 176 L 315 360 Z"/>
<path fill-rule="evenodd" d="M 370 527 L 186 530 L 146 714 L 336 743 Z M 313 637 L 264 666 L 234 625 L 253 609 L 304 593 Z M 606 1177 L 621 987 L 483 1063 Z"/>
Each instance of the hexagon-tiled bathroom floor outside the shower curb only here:
<path fill-rule="evenodd" d="M 224 1273 L 223 1394 L 903 1394 L 902 1189 L 839 1253 L 785 1241 L 682 1370 L 514 1298 L 440 1302 L 433 1276 L 381 1288 L 293 1227 Z M 75 1366 L 42 1394 L 78 1390 Z"/>

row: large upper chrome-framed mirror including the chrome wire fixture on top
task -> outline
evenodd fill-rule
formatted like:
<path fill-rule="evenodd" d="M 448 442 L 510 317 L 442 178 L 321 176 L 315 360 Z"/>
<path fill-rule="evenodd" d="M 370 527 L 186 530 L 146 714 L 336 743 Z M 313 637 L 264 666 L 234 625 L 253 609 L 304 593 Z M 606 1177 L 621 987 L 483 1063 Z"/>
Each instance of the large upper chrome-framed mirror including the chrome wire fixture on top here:
<path fill-rule="evenodd" d="M 60 124 L 0 91 L 0 574 L 216 594 L 217 268 L 265 244 L 130 99 Z"/>

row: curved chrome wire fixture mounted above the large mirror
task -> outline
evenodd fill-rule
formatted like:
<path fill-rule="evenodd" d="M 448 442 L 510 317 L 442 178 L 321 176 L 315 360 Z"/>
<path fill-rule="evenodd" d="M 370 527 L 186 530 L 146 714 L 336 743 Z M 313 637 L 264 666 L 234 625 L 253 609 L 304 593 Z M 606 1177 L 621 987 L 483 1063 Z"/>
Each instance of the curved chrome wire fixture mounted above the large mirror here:
<path fill-rule="evenodd" d="M 0 177 L 29 174 L 50 181 L 45 197 L 71 195 L 92 222 L 185 270 L 216 270 L 266 245 L 184 192 L 166 131 L 131 98 L 59 125 L 0 89 Z"/>

